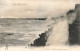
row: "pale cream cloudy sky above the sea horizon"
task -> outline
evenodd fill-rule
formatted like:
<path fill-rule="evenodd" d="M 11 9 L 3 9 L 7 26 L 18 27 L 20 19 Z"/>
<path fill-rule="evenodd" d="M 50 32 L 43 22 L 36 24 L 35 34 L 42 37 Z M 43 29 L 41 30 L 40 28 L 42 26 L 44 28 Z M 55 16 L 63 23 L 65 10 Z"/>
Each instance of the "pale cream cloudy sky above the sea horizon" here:
<path fill-rule="evenodd" d="M 0 0 L 0 17 L 59 17 L 79 0 Z"/>

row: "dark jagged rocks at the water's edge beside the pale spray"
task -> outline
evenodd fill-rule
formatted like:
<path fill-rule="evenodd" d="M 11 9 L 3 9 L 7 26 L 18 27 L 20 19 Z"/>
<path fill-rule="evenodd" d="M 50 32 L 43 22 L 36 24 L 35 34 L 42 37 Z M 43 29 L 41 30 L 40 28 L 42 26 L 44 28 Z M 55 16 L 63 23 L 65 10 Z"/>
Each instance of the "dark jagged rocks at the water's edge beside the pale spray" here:
<path fill-rule="evenodd" d="M 46 32 L 41 33 L 39 35 L 40 38 L 35 39 L 34 40 L 34 44 L 31 44 L 31 46 L 45 46 L 46 45 L 46 42 L 47 42 L 46 35 L 47 35 Z"/>

